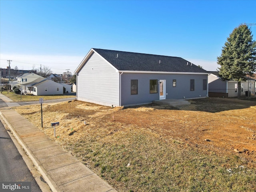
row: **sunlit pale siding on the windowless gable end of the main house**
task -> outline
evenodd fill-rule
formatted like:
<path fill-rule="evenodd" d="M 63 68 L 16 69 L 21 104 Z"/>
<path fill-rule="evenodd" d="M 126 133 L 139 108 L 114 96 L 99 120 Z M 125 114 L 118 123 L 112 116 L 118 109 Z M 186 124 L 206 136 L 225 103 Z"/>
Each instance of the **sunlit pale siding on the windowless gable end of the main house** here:
<path fill-rule="evenodd" d="M 119 72 L 93 53 L 78 72 L 77 99 L 106 106 L 119 106 Z"/>

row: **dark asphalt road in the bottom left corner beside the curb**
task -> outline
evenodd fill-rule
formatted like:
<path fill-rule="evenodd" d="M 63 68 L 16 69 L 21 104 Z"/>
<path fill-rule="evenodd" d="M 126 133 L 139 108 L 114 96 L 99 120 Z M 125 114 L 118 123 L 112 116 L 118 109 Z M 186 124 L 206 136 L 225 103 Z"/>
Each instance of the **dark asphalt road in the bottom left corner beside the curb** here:
<path fill-rule="evenodd" d="M 41 192 L 2 122 L 0 122 L 0 181 L 31 182 L 31 191 Z"/>

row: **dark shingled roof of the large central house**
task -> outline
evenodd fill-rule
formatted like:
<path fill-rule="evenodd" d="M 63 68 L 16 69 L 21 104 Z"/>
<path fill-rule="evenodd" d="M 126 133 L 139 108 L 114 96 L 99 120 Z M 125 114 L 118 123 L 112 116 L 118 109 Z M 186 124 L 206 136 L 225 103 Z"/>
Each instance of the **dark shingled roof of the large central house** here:
<path fill-rule="evenodd" d="M 95 48 L 93 50 L 120 71 L 207 73 L 206 70 L 180 57 Z"/>

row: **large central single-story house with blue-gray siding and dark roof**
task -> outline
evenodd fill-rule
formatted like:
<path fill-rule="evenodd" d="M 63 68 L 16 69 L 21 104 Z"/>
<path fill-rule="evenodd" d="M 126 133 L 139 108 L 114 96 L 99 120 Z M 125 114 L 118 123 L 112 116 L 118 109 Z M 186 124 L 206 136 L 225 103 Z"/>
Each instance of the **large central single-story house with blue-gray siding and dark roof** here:
<path fill-rule="evenodd" d="M 208 96 L 208 72 L 180 57 L 92 48 L 76 74 L 77 100 L 135 106 Z"/>

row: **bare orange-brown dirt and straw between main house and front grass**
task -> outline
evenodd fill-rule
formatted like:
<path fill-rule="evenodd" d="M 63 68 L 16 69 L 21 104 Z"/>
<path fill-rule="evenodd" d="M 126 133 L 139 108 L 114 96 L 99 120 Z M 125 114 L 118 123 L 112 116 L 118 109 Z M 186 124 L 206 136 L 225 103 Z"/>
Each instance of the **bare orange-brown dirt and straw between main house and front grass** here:
<path fill-rule="evenodd" d="M 104 129 L 109 124 L 109 134 L 124 125 L 143 128 L 164 139 L 200 147 L 205 153 L 239 155 L 248 165 L 256 167 L 255 101 L 207 98 L 190 102 L 191 105 L 178 108 L 155 104 L 110 108 L 74 100 L 44 106 L 44 121 L 47 124 L 60 121 L 64 128 L 62 137 L 79 138 L 85 129 Z M 31 114 L 38 109 L 17 110 L 32 118 Z"/>

